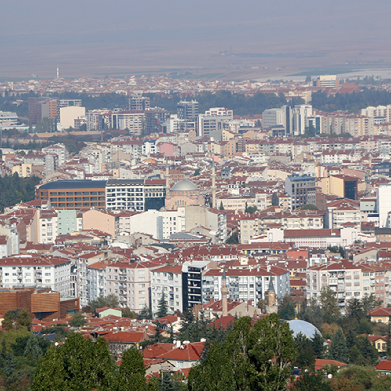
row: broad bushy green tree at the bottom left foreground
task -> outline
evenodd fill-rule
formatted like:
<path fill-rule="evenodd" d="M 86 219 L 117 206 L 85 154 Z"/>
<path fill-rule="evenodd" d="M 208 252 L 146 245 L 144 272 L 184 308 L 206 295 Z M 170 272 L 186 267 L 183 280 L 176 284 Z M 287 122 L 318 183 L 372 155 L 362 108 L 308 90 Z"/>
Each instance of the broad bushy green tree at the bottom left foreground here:
<path fill-rule="evenodd" d="M 115 384 L 115 364 L 104 338 L 93 342 L 70 333 L 65 344 L 52 345 L 39 361 L 31 390 L 109 390 Z"/>

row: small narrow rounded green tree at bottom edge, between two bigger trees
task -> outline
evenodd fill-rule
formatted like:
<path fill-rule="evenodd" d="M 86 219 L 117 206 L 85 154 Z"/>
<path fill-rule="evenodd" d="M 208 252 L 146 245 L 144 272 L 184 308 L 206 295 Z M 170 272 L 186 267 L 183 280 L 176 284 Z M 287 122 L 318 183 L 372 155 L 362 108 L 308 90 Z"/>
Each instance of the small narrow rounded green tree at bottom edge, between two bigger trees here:
<path fill-rule="evenodd" d="M 117 375 L 117 391 L 146 391 L 145 365 L 142 354 L 135 346 L 125 350 Z"/>

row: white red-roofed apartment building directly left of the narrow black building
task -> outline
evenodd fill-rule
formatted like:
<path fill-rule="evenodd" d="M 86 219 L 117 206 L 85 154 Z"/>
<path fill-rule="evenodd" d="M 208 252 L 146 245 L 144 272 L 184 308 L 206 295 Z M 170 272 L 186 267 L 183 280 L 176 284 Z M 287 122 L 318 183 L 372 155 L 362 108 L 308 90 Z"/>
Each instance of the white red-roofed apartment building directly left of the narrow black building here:
<path fill-rule="evenodd" d="M 151 271 L 151 309 L 158 312 L 164 292 L 169 312 L 183 312 L 182 265 L 163 266 Z"/>

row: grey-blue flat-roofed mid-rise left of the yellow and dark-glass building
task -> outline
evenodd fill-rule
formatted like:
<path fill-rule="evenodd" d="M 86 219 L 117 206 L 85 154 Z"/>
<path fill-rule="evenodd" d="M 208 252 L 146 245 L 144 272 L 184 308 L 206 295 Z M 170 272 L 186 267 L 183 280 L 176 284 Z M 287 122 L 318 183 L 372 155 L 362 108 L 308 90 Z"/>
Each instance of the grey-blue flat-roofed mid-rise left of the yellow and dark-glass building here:
<path fill-rule="evenodd" d="M 292 210 L 315 205 L 315 178 L 309 175 L 291 175 L 285 179 L 285 192 L 292 197 Z"/>

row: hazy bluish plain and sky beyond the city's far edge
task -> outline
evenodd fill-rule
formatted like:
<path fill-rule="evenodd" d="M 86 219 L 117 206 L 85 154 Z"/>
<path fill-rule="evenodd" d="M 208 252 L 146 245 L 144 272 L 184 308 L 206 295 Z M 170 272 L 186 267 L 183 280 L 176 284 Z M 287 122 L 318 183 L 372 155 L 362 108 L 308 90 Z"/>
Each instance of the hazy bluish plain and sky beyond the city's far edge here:
<path fill-rule="evenodd" d="M 390 8 L 386 1 L 368 9 L 363 1 L 17 0 L 2 4 L 10 17 L 0 26 L 0 77 L 55 77 L 57 65 L 62 77 L 174 71 L 224 79 L 389 68 Z"/>

